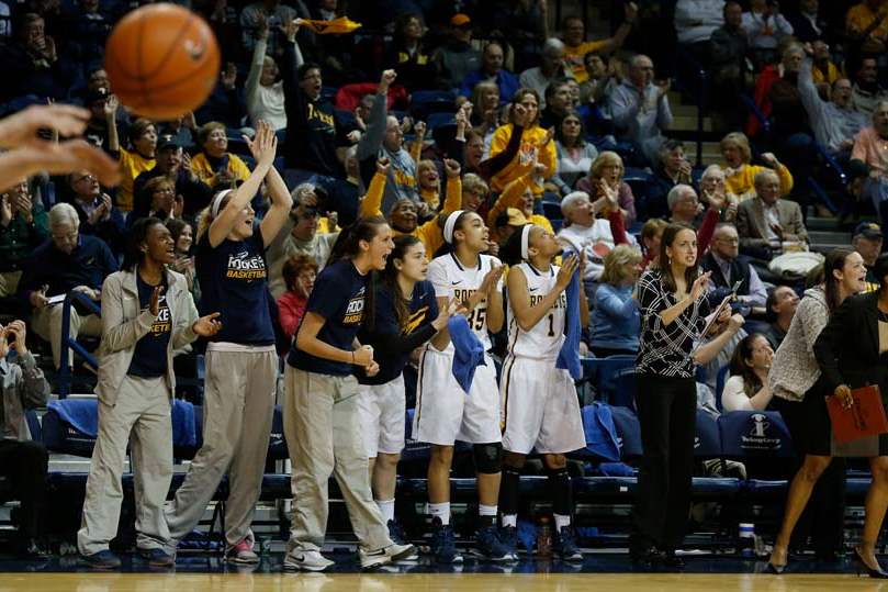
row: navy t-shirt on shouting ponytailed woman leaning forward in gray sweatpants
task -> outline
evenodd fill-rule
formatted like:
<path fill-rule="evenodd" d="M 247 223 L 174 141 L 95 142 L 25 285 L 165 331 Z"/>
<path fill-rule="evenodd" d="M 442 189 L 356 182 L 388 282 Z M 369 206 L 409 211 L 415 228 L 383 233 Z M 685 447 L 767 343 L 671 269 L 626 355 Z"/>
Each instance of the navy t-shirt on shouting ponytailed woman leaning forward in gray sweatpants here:
<path fill-rule="evenodd" d="M 340 259 L 324 268 L 315 281 L 305 315 L 313 312 L 324 317 L 324 326 L 317 338 L 346 351 L 353 349 L 352 342 L 363 321 L 363 304 L 370 276 L 361 276 L 351 259 Z M 299 334 L 299 329 L 296 331 Z M 286 362 L 294 368 L 321 375 L 349 376 L 351 364 L 316 358 L 296 348 L 290 348 Z"/>

